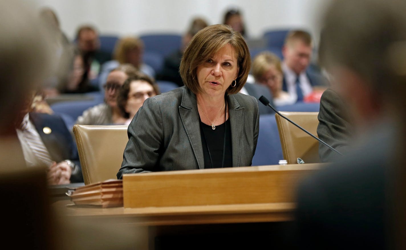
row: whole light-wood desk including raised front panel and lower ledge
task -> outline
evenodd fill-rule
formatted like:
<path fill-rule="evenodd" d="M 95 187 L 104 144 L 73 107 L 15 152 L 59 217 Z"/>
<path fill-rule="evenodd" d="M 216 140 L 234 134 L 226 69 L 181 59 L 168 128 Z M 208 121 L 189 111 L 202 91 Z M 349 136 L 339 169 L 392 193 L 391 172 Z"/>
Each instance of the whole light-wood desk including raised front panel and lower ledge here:
<path fill-rule="evenodd" d="M 124 207 L 78 207 L 70 201 L 54 205 L 64 206 L 65 215 L 81 221 L 131 225 L 138 235 L 144 235 L 144 248 L 155 249 L 156 237 L 161 235 L 219 231 L 244 231 L 245 235 L 260 227 L 268 230 L 274 223 L 292 221 L 298 182 L 323 166 L 315 163 L 126 174 Z M 275 237 L 279 229 L 272 230 Z"/>

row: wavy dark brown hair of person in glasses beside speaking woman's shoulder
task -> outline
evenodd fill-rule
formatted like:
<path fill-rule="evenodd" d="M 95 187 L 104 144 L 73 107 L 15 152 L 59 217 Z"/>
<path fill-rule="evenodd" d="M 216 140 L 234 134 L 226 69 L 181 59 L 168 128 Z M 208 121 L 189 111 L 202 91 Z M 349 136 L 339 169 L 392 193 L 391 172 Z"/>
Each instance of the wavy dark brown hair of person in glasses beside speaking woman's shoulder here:
<path fill-rule="evenodd" d="M 131 75 L 124 81 L 123 85 L 119 89 L 119 93 L 117 94 L 117 106 L 119 106 L 124 118 L 130 118 L 130 113 L 125 111 L 125 105 L 127 104 L 128 93 L 130 93 L 130 85 L 133 81 L 146 81 L 147 83 L 151 84 L 155 94 L 160 94 L 158 85 L 155 83 L 154 79 L 148 75 L 140 72 L 135 75 Z"/>

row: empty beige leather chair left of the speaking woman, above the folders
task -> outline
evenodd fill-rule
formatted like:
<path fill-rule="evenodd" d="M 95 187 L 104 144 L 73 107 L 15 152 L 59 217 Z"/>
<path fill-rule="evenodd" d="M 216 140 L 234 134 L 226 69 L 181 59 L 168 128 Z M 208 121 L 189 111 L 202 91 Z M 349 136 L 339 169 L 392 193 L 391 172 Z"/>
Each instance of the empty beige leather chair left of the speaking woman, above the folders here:
<path fill-rule="evenodd" d="M 73 126 L 84 184 L 116 179 L 127 145 L 127 125 Z"/>

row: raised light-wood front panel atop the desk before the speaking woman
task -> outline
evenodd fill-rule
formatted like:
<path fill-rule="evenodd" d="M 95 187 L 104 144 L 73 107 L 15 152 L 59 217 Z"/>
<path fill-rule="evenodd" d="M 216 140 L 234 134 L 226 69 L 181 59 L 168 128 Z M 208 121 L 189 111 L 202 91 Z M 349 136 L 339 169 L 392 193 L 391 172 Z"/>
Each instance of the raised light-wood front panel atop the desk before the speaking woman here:
<path fill-rule="evenodd" d="M 289 203 L 319 164 L 123 175 L 124 208 Z"/>

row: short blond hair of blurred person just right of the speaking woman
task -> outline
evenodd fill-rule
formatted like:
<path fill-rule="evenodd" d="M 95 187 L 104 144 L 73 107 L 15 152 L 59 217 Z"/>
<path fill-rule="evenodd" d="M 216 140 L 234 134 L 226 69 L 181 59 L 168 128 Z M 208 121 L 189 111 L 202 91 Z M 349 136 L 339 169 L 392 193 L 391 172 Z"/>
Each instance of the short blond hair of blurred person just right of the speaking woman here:
<path fill-rule="evenodd" d="M 281 67 L 281 60 L 278 56 L 270 51 L 263 51 L 254 58 L 252 73 L 255 81 L 258 81 L 265 71 L 268 70 L 269 66 L 274 65 L 276 70 L 283 74 Z"/>

